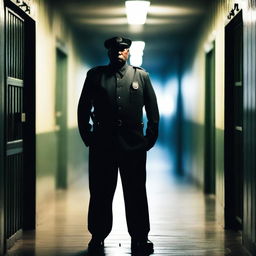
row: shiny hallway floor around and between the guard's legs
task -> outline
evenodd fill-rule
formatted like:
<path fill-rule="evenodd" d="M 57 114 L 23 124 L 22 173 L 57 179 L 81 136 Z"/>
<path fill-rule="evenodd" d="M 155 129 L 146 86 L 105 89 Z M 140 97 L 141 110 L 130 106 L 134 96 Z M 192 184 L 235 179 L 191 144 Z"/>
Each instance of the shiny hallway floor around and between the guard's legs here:
<path fill-rule="evenodd" d="M 215 220 L 215 201 L 184 178 L 175 177 L 166 152 L 148 154 L 150 240 L 156 256 L 245 256 L 239 232 L 225 231 Z M 25 232 L 8 256 L 85 256 L 87 176 L 67 191 L 57 191 L 38 213 L 37 230 Z M 130 255 L 122 189 L 114 199 L 113 231 L 105 241 L 106 256 Z M 95 255 L 96 256 L 96 255 Z"/>

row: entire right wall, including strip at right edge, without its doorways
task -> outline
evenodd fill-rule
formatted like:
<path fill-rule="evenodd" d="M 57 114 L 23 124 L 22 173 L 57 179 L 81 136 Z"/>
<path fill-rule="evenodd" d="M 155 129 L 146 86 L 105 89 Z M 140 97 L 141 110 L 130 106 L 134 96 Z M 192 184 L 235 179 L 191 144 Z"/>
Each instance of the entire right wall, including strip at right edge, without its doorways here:
<path fill-rule="evenodd" d="M 238 3 L 244 23 L 244 220 L 243 242 L 255 253 L 255 2 L 251 0 L 213 1 L 208 20 L 198 31 L 194 45 L 184 53 L 182 75 L 183 168 L 199 186 L 204 186 L 204 102 L 205 54 L 207 44 L 215 41 L 215 144 L 216 204 L 218 221 L 223 226 L 225 208 L 224 184 L 224 47 L 227 15 Z"/>

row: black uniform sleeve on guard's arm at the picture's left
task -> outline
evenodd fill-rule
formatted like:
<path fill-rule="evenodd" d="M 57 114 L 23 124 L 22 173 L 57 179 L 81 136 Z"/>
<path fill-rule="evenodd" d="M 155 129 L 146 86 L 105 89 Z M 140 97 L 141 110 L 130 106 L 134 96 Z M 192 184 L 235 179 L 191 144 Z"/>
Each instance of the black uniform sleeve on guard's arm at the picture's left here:
<path fill-rule="evenodd" d="M 86 146 L 90 145 L 92 137 L 91 124 L 89 123 L 92 109 L 92 87 L 93 72 L 92 70 L 89 70 L 87 72 L 77 110 L 78 129 Z"/>

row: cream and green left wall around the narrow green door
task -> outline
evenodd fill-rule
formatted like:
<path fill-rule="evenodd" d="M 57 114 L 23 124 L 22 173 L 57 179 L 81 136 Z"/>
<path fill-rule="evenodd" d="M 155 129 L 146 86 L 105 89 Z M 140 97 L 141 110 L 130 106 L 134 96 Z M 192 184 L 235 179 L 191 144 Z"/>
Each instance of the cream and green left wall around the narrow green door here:
<path fill-rule="evenodd" d="M 86 161 L 76 124 L 76 108 L 86 67 L 77 51 L 77 37 L 51 1 L 37 0 L 36 19 L 36 152 L 37 210 L 53 196 L 57 169 L 57 126 L 55 116 L 56 47 L 67 54 L 67 145 L 68 184 L 78 176 Z M 84 161 L 82 161 L 84 159 Z"/>

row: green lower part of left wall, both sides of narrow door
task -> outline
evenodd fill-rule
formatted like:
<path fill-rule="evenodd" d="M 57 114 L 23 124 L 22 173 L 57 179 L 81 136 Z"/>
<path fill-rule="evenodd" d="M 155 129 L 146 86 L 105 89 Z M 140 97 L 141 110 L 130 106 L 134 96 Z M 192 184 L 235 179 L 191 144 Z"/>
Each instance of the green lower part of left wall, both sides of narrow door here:
<path fill-rule="evenodd" d="M 87 172 L 88 149 L 84 146 L 76 128 L 67 133 L 67 184 L 68 187 Z M 40 133 L 36 136 L 36 168 L 37 168 L 37 206 L 56 190 L 57 134 L 56 132 Z"/>

